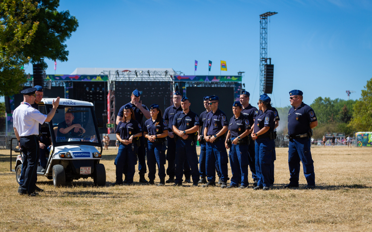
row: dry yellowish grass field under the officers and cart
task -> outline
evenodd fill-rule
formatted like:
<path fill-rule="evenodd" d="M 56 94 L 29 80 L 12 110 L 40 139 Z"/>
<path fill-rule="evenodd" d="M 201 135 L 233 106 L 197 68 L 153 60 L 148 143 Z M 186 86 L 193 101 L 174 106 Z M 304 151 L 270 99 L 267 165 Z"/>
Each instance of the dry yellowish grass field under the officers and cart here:
<path fill-rule="evenodd" d="M 289 182 L 288 148 L 276 151 L 269 191 L 109 186 L 113 147 L 103 152 L 105 187 L 92 179 L 54 187 L 39 177 L 45 192 L 27 197 L 17 193 L 9 151 L 0 150 L 0 231 L 372 231 L 372 148 L 312 147 L 314 190 L 282 189 Z"/>

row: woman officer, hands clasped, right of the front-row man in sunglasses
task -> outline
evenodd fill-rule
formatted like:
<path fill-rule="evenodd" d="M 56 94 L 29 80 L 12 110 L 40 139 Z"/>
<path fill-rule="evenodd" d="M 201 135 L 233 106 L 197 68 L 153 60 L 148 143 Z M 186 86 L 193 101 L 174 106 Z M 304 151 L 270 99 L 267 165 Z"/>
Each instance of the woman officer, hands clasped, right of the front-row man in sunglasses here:
<path fill-rule="evenodd" d="M 235 101 L 233 104 L 234 116 L 229 122 L 225 147 L 230 148 L 229 158 L 233 177 L 229 187 L 248 187 L 248 142 L 250 131 L 248 118 L 242 113 L 242 104 Z"/>

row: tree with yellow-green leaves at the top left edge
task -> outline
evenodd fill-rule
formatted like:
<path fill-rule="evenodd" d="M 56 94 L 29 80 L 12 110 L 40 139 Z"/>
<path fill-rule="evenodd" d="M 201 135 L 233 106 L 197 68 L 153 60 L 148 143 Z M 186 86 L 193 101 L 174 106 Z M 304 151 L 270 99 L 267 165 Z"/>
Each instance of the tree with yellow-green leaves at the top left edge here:
<path fill-rule="evenodd" d="M 32 0 L 0 1 L 0 95 L 18 93 L 26 81 L 21 67 L 29 57 L 21 49 L 30 44 L 38 28 L 39 12 Z"/>

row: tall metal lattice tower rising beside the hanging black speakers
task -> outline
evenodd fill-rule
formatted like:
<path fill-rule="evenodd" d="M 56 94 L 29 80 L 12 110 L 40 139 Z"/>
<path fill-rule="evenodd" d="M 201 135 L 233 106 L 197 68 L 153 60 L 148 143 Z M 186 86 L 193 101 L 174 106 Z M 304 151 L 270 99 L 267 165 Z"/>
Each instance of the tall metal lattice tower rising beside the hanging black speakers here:
<path fill-rule="evenodd" d="M 267 18 L 277 12 L 260 14 L 259 20 L 259 94 L 263 93 L 265 64 L 267 63 Z"/>

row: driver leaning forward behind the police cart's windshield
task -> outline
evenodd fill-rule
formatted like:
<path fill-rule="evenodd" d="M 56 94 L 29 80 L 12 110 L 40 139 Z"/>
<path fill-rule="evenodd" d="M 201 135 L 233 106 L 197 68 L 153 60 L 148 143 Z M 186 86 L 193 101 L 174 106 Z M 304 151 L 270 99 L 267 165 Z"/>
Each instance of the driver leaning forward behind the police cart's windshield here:
<path fill-rule="evenodd" d="M 58 124 L 57 141 L 65 141 L 85 133 L 85 129 L 82 128 L 80 124 L 74 123 L 73 119 L 74 116 L 72 111 L 68 110 L 64 113 L 64 121 Z"/>

